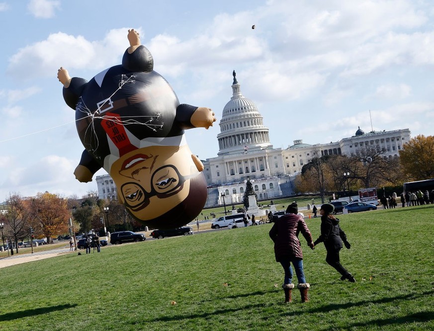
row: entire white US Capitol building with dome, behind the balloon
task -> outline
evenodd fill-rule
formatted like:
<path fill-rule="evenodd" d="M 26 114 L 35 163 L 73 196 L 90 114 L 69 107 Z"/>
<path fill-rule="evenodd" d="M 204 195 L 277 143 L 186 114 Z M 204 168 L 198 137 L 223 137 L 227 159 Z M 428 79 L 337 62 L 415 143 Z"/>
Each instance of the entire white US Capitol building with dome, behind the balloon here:
<path fill-rule="evenodd" d="M 206 207 L 243 201 L 249 178 L 258 200 L 293 194 L 293 179 L 314 153 L 353 156 L 365 146 L 380 146 L 388 158 L 399 157 L 402 146 L 410 140 L 410 130 L 364 133 L 358 128 L 355 135 L 329 144 L 309 145 L 295 140 L 286 149 L 273 148 L 268 128 L 258 107 L 241 93 L 235 71 L 232 97 L 223 108 L 220 133 L 217 135 L 217 157 L 201 160 L 208 183 Z M 99 198 L 115 198 L 116 187 L 110 176 L 96 176 Z"/>

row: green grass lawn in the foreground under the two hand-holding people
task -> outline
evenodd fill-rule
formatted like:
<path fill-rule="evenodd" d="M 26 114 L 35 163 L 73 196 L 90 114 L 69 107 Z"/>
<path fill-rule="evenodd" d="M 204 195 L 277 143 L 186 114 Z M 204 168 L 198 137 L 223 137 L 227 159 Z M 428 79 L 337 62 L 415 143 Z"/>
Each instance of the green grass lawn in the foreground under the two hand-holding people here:
<path fill-rule="evenodd" d="M 283 304 L 271 224 L 2 268 L 0 330 L 434 330 L 433 212 L 339 215 L 355 284 L 301 238 L 305 304 Z M 320 219 L 306 221 L 316 239 Z"/>

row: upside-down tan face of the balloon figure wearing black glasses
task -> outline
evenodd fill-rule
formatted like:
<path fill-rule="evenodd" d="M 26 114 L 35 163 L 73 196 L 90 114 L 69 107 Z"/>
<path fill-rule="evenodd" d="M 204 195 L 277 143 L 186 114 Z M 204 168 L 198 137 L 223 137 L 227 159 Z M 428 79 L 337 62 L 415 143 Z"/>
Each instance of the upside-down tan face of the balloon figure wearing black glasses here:
<path fill-rule="evenodd" d="M 190 178 L 197 174 L 187 146 L 141 148 L 122 156 L 110 171 L 122 203 L 143 221 L 182 202 L 190 190 Z"/>

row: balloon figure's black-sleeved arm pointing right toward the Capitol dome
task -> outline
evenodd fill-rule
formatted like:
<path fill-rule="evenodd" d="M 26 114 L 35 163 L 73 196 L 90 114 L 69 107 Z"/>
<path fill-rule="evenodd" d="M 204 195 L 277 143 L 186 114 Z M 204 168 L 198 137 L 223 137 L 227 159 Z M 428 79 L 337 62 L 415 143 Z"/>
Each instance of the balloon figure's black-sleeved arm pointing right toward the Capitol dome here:
<path fill-rule="evenodd" d="M 194 107 L 188 104 L 180 104 L 176 107 L 176 121 L 181 129 L 206 128 L 208 129 L 216 121 L 211 108 Z"/>

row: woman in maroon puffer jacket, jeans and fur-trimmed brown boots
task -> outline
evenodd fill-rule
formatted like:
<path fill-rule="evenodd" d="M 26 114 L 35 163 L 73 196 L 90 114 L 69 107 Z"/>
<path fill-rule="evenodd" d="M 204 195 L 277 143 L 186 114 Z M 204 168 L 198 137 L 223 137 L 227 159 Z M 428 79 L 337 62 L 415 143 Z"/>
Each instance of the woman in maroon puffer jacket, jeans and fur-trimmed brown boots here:
<path fill-rule="evenodd" d="M 298 234 L 301 232 L 306 239 L 310 248 L 313 249 L 312 235 L 304 222 L 302 216 L 298 215 L 297 203 L 293 202 L 286 208 L 286 214 L 280 217 L 273 225 L 269 232 L 271 240 L 274 242 L 274 255 L 276 261 L 280 262 L 285 271 L 285 277 L 282 288 L 285 292 L 285 302 L 292 301 L 292 268 L 291 262 L 294 265 L 295 273 L 298 279 L 297 288 L 300 289 L 301 302 L 309 301 L 307 292 L 309 283 L 306 283 L 306 278 L 303 271 L 303 254 L 301 251 Z"/>

